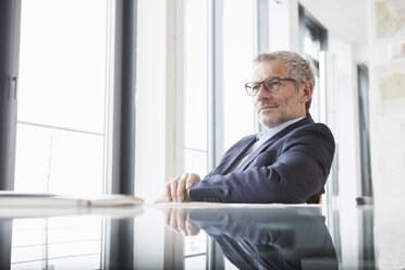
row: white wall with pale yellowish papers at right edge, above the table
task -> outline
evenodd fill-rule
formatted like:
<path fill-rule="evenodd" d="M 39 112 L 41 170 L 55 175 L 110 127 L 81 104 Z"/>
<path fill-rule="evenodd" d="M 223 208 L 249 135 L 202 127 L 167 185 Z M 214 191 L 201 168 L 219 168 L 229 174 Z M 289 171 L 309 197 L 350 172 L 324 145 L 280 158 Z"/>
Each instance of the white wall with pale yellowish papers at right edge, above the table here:
<path fill-rule="evenodd" d="M 380 201 L 381 205 L 389 205 L 390 201 L 404 204 L 405 199 L 402 198 L 405 189 L 403 176 L 405 174 L 405 98 L 396 96 L 394 91 L 405 93 L 405 84 L 389 77 L 395 73 L 405 77 L 405 57 L 398 59 L 390 57 L 391 46 L 405 45 L 405 26 L 402 27 L 402 32 L 395 33 L 394 24 L 391 22 L 385 27 L 390 25 L 392 33 L 386 36 L 377 34 L 376 4 L 370 1 L 368 5 L 373 189 L 376 202 Z M 380 4 L 389 3 L 384 1 Z M 397 12 L 401 13 L 401 11 Z M 404 14 L 395 14 L 395 16 L 404 16 Z M 380 19 L 380 21 L 383 20 L 389 21 L 391 17 L 385 14 L 384 19 Z M 383 86 L 383 79 L 386 78 L 391 81 L 391 85 Z M 392 91 L 392 97 L 384 98 L 383 91 Z"/>

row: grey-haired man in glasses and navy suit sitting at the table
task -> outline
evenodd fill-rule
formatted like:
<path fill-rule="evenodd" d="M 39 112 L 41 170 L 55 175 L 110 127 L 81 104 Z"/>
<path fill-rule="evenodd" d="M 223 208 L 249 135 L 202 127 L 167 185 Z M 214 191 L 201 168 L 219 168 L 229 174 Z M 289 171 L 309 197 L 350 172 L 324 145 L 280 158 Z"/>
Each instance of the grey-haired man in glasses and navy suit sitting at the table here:
<path fill-rule="evenodd" d="M 242 138 L 200 180 L 185 173 L 167 184 L 163 201 L 317 204 L 330 172 L 334 139 L 309 114 L 314 71 L 295 52 L 254 60 L 253 97 L 263 131 Z"/>

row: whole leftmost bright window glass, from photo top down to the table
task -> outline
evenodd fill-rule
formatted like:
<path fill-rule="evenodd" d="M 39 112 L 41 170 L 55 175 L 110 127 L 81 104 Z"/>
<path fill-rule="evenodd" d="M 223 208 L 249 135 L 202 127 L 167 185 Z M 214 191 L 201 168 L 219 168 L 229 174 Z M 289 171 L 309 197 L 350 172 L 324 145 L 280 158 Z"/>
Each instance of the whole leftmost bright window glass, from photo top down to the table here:
<path fill-rule="evenodd" d="M 107 14 L 107 0 L 22 1 L 15 191 L 102 193 Z"/>

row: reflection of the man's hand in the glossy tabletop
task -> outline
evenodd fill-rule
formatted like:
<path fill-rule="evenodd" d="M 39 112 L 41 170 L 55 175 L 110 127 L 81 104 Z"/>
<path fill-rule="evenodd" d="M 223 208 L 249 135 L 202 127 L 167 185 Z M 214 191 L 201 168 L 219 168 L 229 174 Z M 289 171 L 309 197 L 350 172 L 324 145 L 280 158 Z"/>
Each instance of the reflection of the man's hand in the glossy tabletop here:
<path fill-rule="evenodd" d="M 181 233 L 184 236 L 192 236 L 197 235 L 200 231 L 189 221 L 189 209 L 168 208 L 164 214 L 165 224 L 176 233 Z"/>

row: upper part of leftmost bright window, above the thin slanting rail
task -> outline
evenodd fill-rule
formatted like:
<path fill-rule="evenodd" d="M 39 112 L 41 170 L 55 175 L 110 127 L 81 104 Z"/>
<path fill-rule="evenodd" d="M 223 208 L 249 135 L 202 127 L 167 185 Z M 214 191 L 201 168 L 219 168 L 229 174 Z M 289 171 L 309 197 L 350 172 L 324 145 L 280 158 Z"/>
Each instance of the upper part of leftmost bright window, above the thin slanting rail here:
<path fill-rule="evenodd" d="M 106 8 L 23 0 L 19 121 L 103 132 Z"/>

